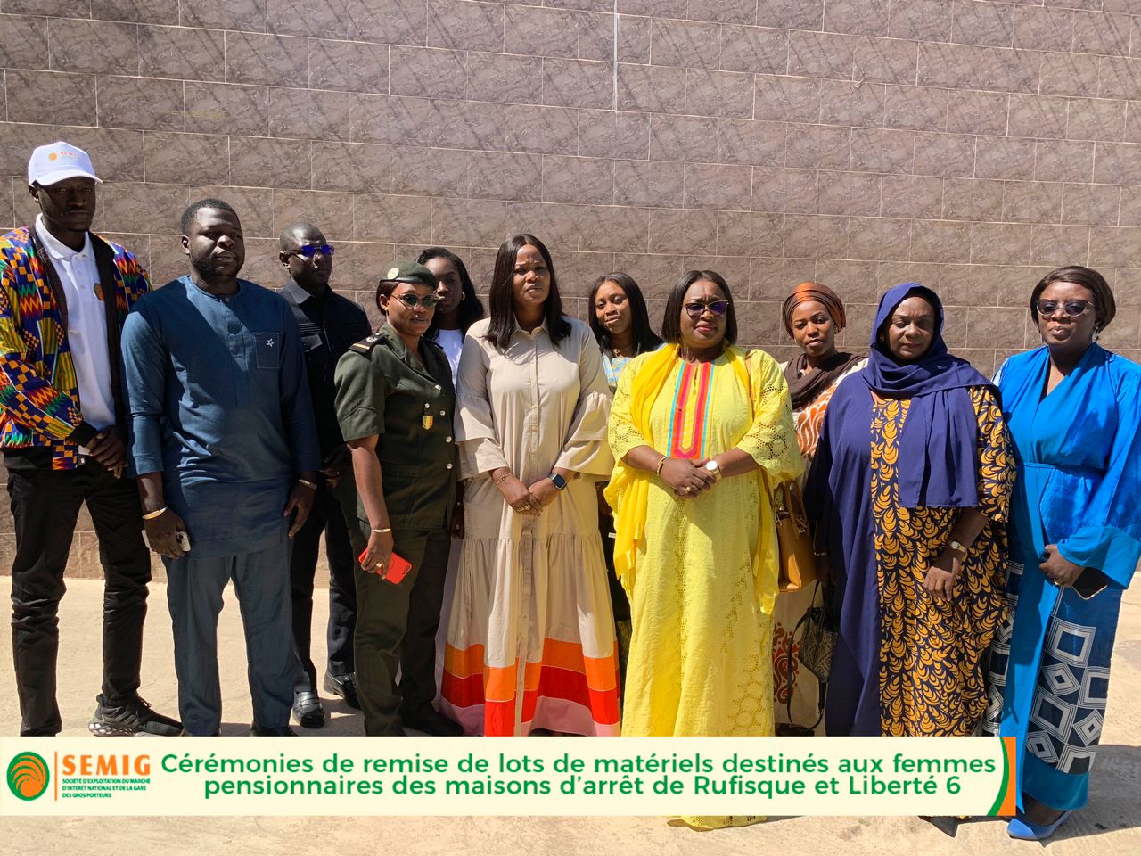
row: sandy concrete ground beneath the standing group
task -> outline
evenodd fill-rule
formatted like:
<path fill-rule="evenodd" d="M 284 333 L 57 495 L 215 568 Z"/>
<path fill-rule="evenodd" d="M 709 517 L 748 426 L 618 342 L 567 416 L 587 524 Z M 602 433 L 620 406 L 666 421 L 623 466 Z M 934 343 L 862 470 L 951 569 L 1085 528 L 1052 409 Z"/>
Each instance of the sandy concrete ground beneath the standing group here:
<path fill-rule="evenodd" d="M 0 578 L 0 592 L 9 582 Z M 86 734 L 95 708 L 99 667 L 102 583 L 75 580 L 60 611 L 59 706 L 64 734 Z M 322 616 L 326 592 L 316 592 L 314 653 L 323 654 Z M 146 627 L 141 695 L 157 710 L 177 710 L 170 623 L 165 590 L 154 586 Z M 0 728 L 18 730 L 11 670 L 11 640 L 0 643 Z M 250 722 L 245 654 L 236 604 L 227 592 L 219 628 L 222 662 L 224 734 L 244 734 Z M 314 657 L 318 664 L 321 660 Z M 319 668 L 319 665 L 318 665 Z M 1141 851 L 1141 587 L 1126 593 L 1114 659 L 1109 716 L 1092 780 L 1091 803 L 1049 843 L 1051 856 L 1133 856 Z M 339 700 L 327 702 L 332 721 L 324 732 L 359 734 L 359 714 Z M 7 798 L 7 794 L 5 794 Z M 952 832 L 954 834 L 952 834 Z M 949 823 L 937 827 L 916 817 L 791 817 L 737 830 L 694 832 L 659 817 L 486 817 L 415 818 L 71 818 L 0 822 L 3 841 L 23 841 L 39 856 L 88 853 L 383 853 L 436 854 L 1034 854 L 1042 846 L 1011 841 L 1001 821 Z M 31 842 L 34 841 L 34 845 Z M 3 848 L 5 851 L 14 853 Z M 17 847 L 23 850 L 23 846 Z"/>

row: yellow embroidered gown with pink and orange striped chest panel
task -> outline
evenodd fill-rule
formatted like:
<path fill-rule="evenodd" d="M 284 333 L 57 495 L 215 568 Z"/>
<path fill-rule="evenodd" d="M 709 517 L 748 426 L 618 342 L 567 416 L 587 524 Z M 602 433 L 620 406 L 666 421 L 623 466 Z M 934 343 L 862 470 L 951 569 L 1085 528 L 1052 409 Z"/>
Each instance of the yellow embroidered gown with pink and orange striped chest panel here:
<path fill-rule="evenodd" d="M 736 446 L 770 481 L 800 475 L 787 385 L 772 357 L 759 350 L 744 357 L 750 390 L 728 353 L 706 364 L 678 360 L 645 436 L 631 388 L 655 356 L 637 357 L 618 381 L 609 423 L 616 460 L 640 445 L 697 459 Z M 759 403 L 755 418 L 751 401 Z M 622 733 L 771 735 L 776 534 L 760 478 L 727 477 L 696 499 L 677 499 L 652 477 L 634 570 L 622 578 L 633 622 Z M 686 819 L 723 826 L 759 818 Z"/>

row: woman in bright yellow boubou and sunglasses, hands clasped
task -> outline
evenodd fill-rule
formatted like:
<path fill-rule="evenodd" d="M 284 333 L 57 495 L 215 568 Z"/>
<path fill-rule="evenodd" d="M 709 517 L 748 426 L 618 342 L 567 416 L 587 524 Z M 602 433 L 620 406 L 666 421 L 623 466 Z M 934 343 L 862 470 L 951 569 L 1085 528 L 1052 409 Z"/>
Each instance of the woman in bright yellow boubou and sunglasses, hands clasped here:
<path fill-rule="evenodd" d="M 606 498 L 633 622 L 622 733 L 771 735 L 778 559 L 766 479 L 803 468 L 787 383 L 768 354 L 734 345 L 733 297 L 712 270 L 681 277 L 662 336 L 622 373 L 609 422 Z"/>

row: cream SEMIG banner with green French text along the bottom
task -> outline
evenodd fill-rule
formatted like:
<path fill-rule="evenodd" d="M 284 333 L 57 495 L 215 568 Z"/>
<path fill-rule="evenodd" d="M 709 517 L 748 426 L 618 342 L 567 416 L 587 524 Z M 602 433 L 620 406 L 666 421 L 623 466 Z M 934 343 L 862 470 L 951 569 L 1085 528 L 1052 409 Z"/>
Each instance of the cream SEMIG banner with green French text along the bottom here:
<path fill-rule="evenodd" d="M 1000 737 L 0 738 L 5 816 L 1012 815 Z"/>

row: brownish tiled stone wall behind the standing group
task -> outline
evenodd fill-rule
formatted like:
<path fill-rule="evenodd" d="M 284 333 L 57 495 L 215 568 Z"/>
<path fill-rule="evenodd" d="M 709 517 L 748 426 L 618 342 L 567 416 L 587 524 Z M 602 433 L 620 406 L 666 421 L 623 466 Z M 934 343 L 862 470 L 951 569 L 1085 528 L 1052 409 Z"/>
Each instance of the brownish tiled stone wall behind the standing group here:
<path fill-rule="evenodd" d="M 580 315 L 599 273 L 656 314 L 713 267 L 780 355 L 798 282 L 844 297 L 860 347 L 877 293 L 920 280 L 989 372 L 1035 344 L 1031 284 L 1082 263 L 1122 304 L 1103 342 L 1141 354 L 1141 0 L 0 0 L 0 224 L 63 137 L 156 282 L 210 194 L 249 278 L 276 284 L 275 235 L 313 219 L 366 306 L 428 243 L 483 286 L 526 228 Z"/>

